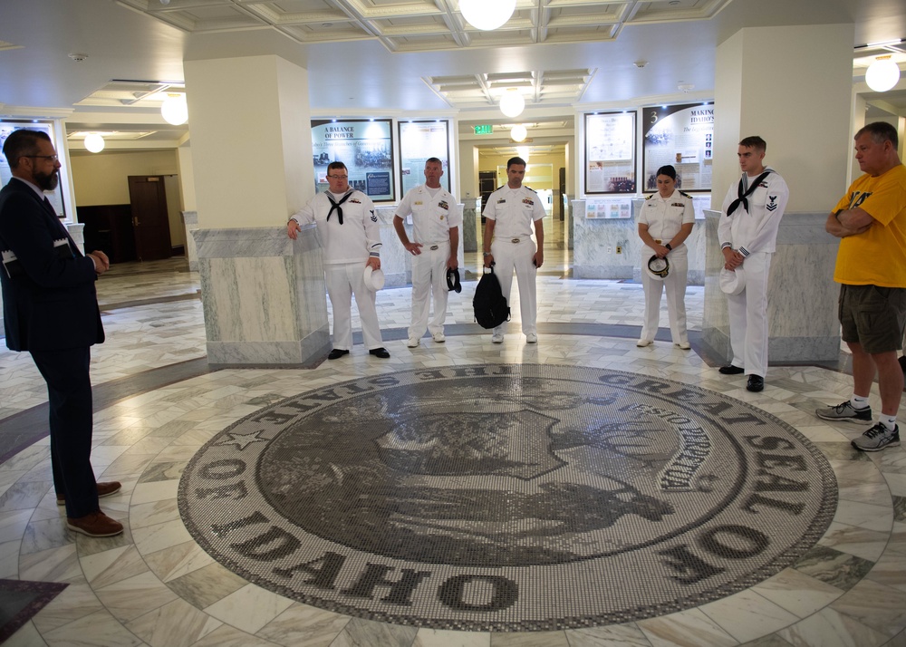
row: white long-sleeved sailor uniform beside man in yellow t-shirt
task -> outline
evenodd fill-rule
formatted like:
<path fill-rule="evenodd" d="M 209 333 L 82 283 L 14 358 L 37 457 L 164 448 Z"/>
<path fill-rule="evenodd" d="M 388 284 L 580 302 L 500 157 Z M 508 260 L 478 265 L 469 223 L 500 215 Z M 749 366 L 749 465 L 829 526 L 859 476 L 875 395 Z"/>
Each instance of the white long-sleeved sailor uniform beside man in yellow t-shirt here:
<path fill-rule="evenodd" d="M 745 369 L 747 375 L 761 377 L 767 374 L 767 280 L 780 218 L 789 199 L 786 181 L 774 169 L 765 171 L 770 172 L 746 198 L 747 205 L 738 204 L 728 216 L 728 208 L 741 195 L 738 182 L 730 185 L 718 222 L 720 248 L 731 247 L 746 257 L 742 264 L 746 289 L 739 295 L 727 295 L 732 364 Z M 757 177 L 743 174 L 743 192 Z"/>

